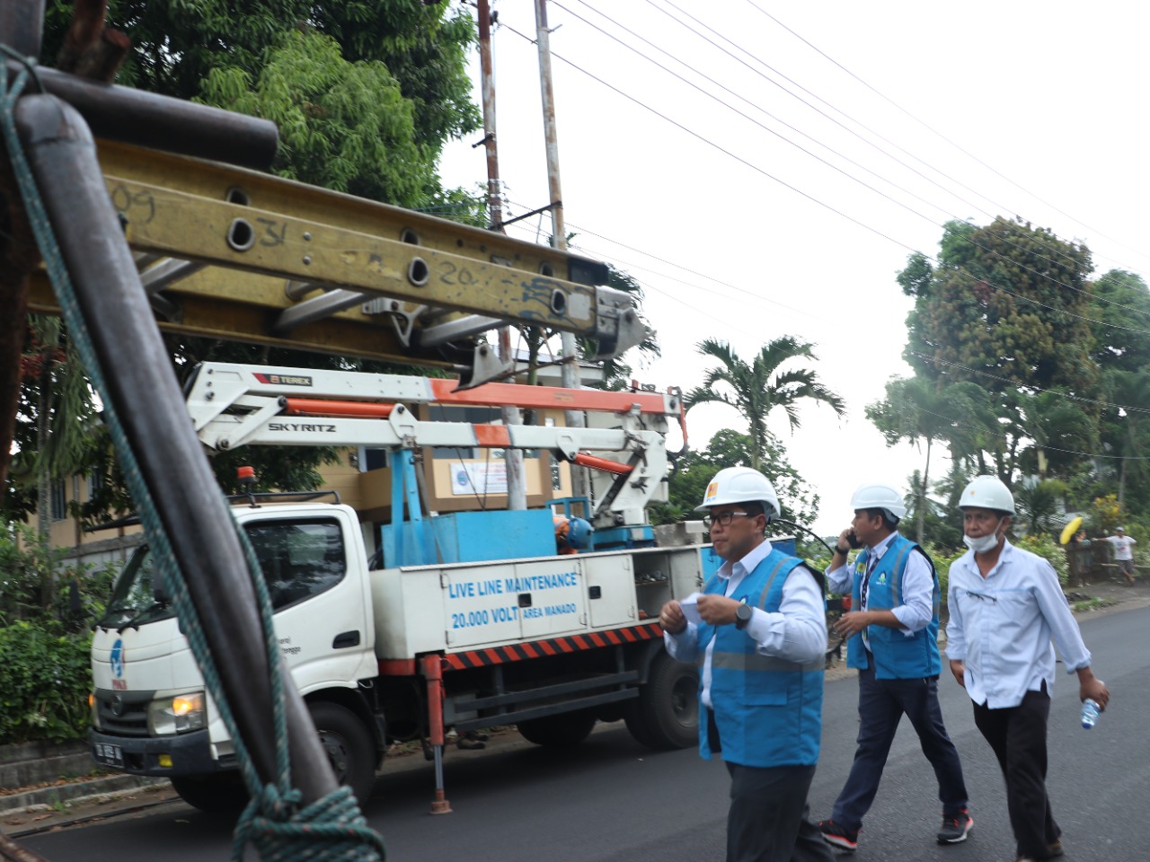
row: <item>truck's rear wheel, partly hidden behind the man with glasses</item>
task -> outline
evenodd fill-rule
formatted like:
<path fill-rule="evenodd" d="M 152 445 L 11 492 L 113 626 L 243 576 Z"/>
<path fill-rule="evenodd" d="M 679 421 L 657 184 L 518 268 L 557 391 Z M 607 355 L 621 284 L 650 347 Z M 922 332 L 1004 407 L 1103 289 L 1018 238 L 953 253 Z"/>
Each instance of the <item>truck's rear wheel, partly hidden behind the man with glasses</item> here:
<path fill-rule="evenodd" d="M 666 653 L 651 662 L 647 683 L 627 711 L 627 729 L 649 748 L 687 748 L 699 739 L 699 675 Z"/>

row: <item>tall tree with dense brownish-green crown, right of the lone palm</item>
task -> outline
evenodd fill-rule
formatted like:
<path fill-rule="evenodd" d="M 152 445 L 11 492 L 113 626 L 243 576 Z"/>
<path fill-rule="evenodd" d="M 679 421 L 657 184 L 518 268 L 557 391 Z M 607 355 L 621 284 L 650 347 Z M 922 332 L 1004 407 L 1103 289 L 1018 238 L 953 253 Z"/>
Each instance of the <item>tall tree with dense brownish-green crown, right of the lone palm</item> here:
<path fill-rule="evenodd" d="M 906 361 L 919 377 L 987 390 L 1000 433 L 982 439 L 995 471 L 1010 480 L 1027 430 L 1017 422 L 1020 388 L 1086 397 L 1098 377 L 1090 356 L 1090 252 L 1021 221 L 976 226 L 949 222 L 937 267 L 921 254 L 897 280 L 914 299 Z"/>

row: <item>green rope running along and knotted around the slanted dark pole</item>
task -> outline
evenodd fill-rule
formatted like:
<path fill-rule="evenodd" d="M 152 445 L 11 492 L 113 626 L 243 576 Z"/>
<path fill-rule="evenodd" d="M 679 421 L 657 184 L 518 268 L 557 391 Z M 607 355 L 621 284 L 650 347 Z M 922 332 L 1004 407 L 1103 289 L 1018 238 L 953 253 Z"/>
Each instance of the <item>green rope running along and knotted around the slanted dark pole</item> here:
<path fill-rule="evenodd" d="M 215 700 L 220 715 L 236 747 L 244 783 L 251 794 L 251 802 L 236 826 L 232 847 L 233 859 L 243 856 L 244 847 L 251 841 L 262 859 L 306 860 L 317 856 L 332 860 L 382 860 L 385 857 L 383 839 L 367 826 L 354 796 L 347 787 L 340 787 L 306 808 L 299 808 L 299 791 L 292 788 L 291 763 L 288 751 L 286 715 L 283 696 L 282 657 L 275 626 L 271 619 L 271 602 L 263 580 L 259 561 L 243 530 L 237 530 L 247 559 L 259 601 L 260 619 L 263 628 L 268 667 L 271 674 L 274 705 L 273 724 L 276 738 L 276 783 L 261 786 L 259 775 L 252 764 L 247 748 L 239 734 L 235 716 L 220 682 L 220 675 L 204 637 L 204 630 L 195 613 L 194 602 L 187 592 L 183 572 L 160 522 L 155 502 L 144 479 L 136 455 L 128 442 L 123 425 L 109 397 L 103 372 L 97 361 L 95 349 L 86 321 L 76 299 L 76 292 L 60 253 L 51 221 L 40 199 L 36 179 L 24 156 L 16 131 L 16 102 L 29 78 L 37 80 L 33 61 L 22 57 L 10 47 L 0 45 L 0 54 L 13 56 L 24 64 L 9 87 L 8 64 L 0 57 L 0 124 L 3 126 L 5 144 L 12 161 L 13 172 L 24 201 L 28 221 L 36 236 L 37 246 L 44 257 L 48 278 L 60 302 L 61 315 L 76 343 L 84 367 L 89 371 L 93 388 L 105 405 L 105 422 L 108 425 L 116 457 L 121 464 L 132 499 L 136 501 L 140 522 L 152 554 L 161 575 L 172 590 L 172 603 L 182 621 L 192 653 L 200 665 L 204 682 Z"/>

